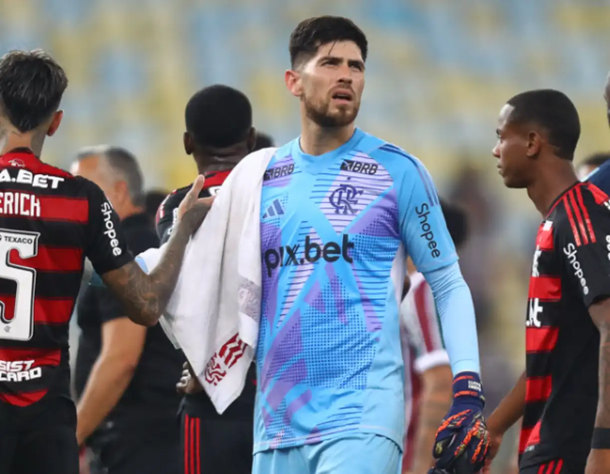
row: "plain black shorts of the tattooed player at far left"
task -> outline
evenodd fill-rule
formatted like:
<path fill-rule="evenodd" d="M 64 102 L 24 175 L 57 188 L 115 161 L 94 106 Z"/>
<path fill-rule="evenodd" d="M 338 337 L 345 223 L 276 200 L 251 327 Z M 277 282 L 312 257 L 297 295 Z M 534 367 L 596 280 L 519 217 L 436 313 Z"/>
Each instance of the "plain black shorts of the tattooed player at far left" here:
<path fill-rule="evenodd" d="M 79 474 L 76 407 L 67 398 L 0 404 L 0 473 Z"/>

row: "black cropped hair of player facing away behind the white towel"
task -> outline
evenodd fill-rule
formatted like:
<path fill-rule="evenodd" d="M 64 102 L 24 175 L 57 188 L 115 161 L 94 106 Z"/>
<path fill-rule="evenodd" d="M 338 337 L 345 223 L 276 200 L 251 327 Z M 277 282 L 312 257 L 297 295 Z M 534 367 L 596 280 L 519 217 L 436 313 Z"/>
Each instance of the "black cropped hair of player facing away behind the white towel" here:
<path fill-rule="evenodd" d="M 196 144 L 230 147 L 248 138 L 252 128 L 252 106 L 243 92 L 215 84 L 190 98 L 184 119 Z"/>

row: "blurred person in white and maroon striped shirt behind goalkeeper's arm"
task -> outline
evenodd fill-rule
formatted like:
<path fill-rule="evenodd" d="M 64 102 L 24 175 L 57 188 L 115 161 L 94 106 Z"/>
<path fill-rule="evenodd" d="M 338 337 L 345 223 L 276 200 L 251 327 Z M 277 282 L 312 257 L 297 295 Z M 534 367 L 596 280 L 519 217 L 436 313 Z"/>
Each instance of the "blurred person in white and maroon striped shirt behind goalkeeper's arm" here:
<path fill-rule="evenodd" d="M 466 213 L 440 200 L 447 228 L 461 249 L 468 236 Z M 407 434 L 403 473 L 426 473 L 434 464 L 432 449 L 440 420 L 451 406 L 451 365 L 440 334 L 432 290 L 411 258 L 407 260 L 410 288 L 400 306 Z M 411 381 L 411 384 L 408 381 Z"/>

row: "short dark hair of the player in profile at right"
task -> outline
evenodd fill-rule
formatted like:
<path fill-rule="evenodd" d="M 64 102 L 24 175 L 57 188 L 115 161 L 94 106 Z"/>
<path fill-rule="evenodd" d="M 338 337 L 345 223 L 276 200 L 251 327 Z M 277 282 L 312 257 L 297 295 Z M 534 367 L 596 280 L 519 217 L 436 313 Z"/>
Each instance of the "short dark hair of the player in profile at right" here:
<path fill-rule="evenodd" d="M 545 128 L 549 143 L 556 148 L 559 158 L 574 159 L 580 138 L 580 119 L 572 101 L 559 90 L 528 90 L 512 97 L 514 107 L 509 122 L 536 123 Z"/>

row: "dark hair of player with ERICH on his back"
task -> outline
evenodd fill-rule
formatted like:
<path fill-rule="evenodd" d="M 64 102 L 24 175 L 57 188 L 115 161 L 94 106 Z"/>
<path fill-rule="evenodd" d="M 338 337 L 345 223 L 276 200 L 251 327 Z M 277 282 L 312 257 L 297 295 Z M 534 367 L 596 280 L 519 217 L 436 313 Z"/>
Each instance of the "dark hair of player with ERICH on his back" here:
<path fill-rule="evenodd" d="M 0 112 L 21 133 L 57 111 L 66 87 L 66 73 L 42 49 L 14 50 L 0 58 Z"/>

